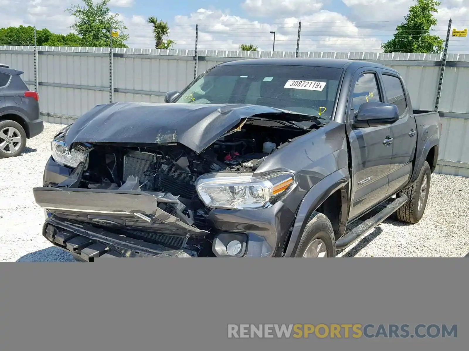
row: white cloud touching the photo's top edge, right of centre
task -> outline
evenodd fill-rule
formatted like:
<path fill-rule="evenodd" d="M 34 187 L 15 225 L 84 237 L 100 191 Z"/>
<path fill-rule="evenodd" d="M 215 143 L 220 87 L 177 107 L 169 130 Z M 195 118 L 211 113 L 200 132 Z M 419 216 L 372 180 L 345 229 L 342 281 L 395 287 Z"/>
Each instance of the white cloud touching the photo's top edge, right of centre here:
<path fill-rule="evenodd" d="M 258 16 L 310 14 L 322 6 L 318 0 L 245 0 L 242 4 L 246 11 Z"/>

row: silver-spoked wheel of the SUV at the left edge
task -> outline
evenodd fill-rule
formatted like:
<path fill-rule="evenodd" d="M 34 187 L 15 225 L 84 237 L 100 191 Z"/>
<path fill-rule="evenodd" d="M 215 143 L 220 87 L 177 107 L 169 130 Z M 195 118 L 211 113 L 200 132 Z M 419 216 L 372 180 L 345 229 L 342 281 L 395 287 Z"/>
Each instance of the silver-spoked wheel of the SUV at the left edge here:
<path fill-rule="evenodd" d="M 26 146 L 26 133 L 15 121 L 0 121 L 0 158 L 15 157 Z"/>

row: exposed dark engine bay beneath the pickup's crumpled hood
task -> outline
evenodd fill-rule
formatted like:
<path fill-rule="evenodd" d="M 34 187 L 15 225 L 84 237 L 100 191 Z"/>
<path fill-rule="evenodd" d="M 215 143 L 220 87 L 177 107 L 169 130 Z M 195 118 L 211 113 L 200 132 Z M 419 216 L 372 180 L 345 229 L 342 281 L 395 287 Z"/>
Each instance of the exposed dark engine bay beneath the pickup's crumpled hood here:
<path fill-rule="evenodd" d="M 303 131 L 301 131 L 303 132 Z M 304 132 L 303 132 L 304 133 Z M 150 147 L 95 146 L 80 187 L 112 189 L 137 176 L 142 190 L 192 198 L 199 176 L 211 172 L 253 172 L 298 131 L 247 125 L 217 140 L 201 154 L 178 143 Z"/>

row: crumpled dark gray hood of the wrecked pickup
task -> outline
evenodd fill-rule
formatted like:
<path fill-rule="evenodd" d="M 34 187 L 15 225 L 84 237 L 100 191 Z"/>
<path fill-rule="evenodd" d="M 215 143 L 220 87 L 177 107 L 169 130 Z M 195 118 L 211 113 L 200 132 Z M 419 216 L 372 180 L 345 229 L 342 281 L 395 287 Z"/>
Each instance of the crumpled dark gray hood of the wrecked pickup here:
<path fill-rule="evenodd" d="M 98 105 L 78 118 L 64 141 L 68 146 L 79 142 L 178 142 L 200 153 L 243 118 L 284 112 L 245 104 L 115 102 Z"/>

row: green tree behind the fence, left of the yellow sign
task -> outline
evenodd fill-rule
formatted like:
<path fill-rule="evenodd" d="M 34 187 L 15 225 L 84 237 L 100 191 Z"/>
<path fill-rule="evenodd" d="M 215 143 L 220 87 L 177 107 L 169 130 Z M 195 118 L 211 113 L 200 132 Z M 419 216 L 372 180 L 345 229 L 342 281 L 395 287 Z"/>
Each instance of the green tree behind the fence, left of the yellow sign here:
<path fill-rule="evenodd" d="M 396 27 L 394 37 L 381 45 L 384 52 L 441 52 L 443 39 L 430 34 L 431 28 L 438 23 L 433 14 L 438 13 L 439 5 L 436 0 L 416 0 L 416 4 L 409 7 L 405 22 Z"/>

